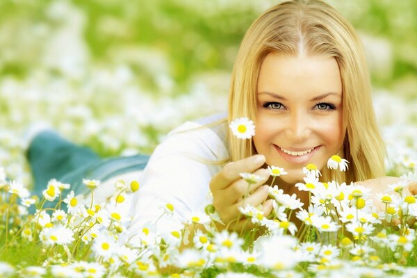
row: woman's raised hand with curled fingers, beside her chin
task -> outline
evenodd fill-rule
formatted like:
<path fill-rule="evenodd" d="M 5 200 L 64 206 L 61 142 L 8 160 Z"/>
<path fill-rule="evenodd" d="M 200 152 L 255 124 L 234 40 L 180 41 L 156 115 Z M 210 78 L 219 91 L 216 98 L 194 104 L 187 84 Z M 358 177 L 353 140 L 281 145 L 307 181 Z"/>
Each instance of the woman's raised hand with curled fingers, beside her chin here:
<path fill-rule="evenodd" d="M 210 190 L 213 193 L 213 206 L 220 214 L 226 227 L 234 231 L 249 230 L 254 227 L 254 224 L 238 211 L 240 206 L 250 204 L 252 206 L 259 206 L 265 202 L 268 197 L 268 186 L 262 186 L 268 180 L 270 172 L 268 169 L 259 169 L 265 163 L 265 156 L 255 155 L 240 161 L 232 162 L 223 167 L 223 169 L 215 174 L 210 181 Z M 263 177 L 263 181 L 252 183 L 248 188 L 248 183 L 240 178 L 242 172 L 253 172 L 254 174 Z M 245 197 L 243 204 L 243 197 Z M 263 204 L 262 211 L 265 216 L 270 215 L 272 211 L 272 200 L 268 200 Z M 246 223 L 245 223 L 246 222 Z"/>

